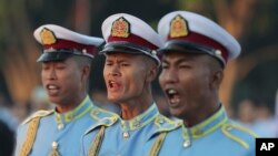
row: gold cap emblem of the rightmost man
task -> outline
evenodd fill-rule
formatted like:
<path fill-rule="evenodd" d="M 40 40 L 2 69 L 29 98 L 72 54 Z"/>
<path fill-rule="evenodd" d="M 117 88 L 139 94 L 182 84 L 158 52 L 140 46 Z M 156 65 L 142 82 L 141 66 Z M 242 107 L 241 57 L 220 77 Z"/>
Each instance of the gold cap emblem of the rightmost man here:
<path fill-rule="evenodd" d="M 188 35 L 187 21 L 181 15 L 178 14 L 171 20 L 170 38 L 179 38 L 187 35 Z"/>

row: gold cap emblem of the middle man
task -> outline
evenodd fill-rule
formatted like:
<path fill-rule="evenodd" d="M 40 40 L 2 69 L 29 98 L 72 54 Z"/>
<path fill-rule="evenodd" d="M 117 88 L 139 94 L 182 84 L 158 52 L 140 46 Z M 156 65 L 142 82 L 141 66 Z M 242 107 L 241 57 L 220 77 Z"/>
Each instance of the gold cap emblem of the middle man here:
<path fill-rule="evenodd" d="M 129 32 L 129 22 L 125 18 L 119 18 L 112 23 L 111 35 L 118 38 L 128 38 Z"/>

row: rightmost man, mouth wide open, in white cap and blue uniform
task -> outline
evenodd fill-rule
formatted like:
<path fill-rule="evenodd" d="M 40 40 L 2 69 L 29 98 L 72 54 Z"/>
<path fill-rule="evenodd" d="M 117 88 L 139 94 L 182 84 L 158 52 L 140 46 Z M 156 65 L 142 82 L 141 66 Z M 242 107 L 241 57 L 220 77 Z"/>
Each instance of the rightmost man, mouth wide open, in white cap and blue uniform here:
<path fill-rule="evenodd" d="M 218 97 L 227 61 L 239 43 L 211 20 L 188 11 L 165 15 L 158 32 L 167 42 L 160 85 L 170 113 L 183 125 L 170 132 L 159 156 L 254 156 L 255 134 L 230 121 Z"/>

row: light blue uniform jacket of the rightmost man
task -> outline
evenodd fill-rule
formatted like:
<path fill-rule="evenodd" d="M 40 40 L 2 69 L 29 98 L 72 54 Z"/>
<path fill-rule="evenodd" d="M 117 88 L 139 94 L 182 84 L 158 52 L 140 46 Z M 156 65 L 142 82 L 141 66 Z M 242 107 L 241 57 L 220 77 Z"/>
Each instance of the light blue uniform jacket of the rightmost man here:
<path fill-rule="evenodd" d="M 193 127 L 168 133 L 159 156 L 255 156 L 252 132 L 235 124 L 221 107 Z"/>

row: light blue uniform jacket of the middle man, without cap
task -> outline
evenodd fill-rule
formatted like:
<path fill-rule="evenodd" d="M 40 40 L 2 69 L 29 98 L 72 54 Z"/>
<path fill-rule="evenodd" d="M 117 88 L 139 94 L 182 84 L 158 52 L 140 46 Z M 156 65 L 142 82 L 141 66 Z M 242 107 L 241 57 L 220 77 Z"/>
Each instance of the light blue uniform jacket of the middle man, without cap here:
<path fill-rule="evenodd" d="M 82 156 L 156 155 L 165 135 L 180 125 L 160 115 L 156 104 L 130 121 L 103 110 L 91 116 L 98 123 L 82 137 Z"/>

